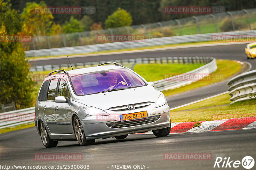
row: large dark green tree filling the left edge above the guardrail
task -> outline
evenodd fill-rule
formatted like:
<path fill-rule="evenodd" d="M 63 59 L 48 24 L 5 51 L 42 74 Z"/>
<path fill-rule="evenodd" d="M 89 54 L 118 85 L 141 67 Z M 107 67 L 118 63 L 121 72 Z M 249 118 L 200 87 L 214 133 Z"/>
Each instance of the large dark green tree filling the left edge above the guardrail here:
<path fill-rule="evenodd" d="M 9 1 L 0 0 L 0 36 L 20 34 L 22 24 Z M 28 62 L 20 42 L 0 41 L 0 103 L 15 102 L 17 109 L 32 104 L 33 81 L 29 77 Z"/>

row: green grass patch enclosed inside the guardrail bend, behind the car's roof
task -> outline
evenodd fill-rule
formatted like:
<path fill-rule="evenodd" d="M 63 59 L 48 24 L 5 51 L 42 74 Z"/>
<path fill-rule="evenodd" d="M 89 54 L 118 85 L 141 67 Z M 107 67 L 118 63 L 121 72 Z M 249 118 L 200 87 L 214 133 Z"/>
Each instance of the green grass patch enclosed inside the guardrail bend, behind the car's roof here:
<path fill-rule="evenodd" d="M 162 80 L 165 74 L 182 74 L 204 64 L 136 64 L 133 70 L 147 81 Z"/>

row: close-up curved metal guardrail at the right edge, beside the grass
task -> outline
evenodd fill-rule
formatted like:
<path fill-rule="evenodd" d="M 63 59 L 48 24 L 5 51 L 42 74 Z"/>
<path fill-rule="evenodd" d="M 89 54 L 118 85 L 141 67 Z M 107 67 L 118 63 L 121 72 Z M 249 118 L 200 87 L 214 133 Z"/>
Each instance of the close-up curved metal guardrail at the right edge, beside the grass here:
<path fill-rule="evenodd" d="M 228 82 L 232 103 L 256 97 L 256 70 L 239 74 Z"/>

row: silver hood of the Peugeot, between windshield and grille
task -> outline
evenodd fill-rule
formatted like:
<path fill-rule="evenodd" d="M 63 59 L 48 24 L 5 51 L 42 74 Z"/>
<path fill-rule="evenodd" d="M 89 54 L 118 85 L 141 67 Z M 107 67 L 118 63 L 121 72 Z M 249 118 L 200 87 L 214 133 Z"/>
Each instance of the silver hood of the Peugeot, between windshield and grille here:
<path fill-rule="evenodd" d="M 87 106 L 108 110 L 111 107 L 123 106 L 142 102 L 156 102 L 161 94 L 152 86 L 142 86 L 131 89 L 109 91 L 105 93 L 76 96 L 76 102 L 83 103 Z"/>

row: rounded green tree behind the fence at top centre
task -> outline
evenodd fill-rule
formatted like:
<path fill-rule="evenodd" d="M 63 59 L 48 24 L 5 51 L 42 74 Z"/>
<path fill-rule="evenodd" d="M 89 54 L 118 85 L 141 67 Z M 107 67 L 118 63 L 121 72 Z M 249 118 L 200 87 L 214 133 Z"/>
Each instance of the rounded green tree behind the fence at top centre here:
<path fill-rule="evenodd" d="M 108 16 L 108 19 L 106 19 L 105 28 L 129 26 L 131 24 L 132 24 L 131 15 L 125 10 L 118 8 L 113 14 Z"/>

